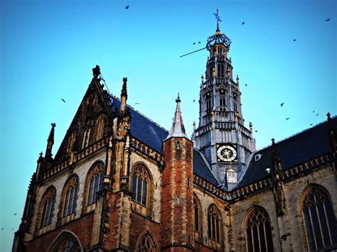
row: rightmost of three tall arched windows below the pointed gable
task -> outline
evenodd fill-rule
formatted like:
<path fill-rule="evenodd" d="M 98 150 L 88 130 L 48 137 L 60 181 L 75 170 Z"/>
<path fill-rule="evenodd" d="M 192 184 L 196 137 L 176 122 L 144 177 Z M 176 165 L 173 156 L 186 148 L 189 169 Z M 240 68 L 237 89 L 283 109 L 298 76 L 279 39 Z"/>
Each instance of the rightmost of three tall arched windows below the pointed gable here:
<path fill-rule="evenodd" d="M 86 194 L 87 194 L 87 212 L 95 209 L 97 201 L 97 192 L 102 189 L 104 178 L 104 168 L 102 164 L 95 165 L 87 175 Z"/>

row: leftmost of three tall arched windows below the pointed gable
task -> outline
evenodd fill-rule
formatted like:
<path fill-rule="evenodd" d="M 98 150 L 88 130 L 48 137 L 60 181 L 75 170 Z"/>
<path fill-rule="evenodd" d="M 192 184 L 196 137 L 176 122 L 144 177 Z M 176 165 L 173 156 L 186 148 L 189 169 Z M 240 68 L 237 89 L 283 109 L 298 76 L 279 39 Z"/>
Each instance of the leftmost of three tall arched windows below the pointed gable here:
<path fill-rule="evenodd" d="M 54 187 L 50 187 L 50 189 L 46 191 L 45 195 L 43 195 L 41 200 L 40 229 L 49 226 L 53 222 L 55 195 L 56 190 Z"/>

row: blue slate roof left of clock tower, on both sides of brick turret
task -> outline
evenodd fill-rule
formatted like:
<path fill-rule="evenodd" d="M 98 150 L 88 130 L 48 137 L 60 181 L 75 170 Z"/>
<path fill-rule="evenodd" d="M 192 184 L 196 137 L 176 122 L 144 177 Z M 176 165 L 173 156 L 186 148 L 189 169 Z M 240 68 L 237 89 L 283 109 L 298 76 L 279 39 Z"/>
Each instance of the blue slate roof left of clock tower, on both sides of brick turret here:
<path fill-rule="evenodd" d="M 114 107 L 119 109 L 120 100 L 109 94 L 110 102 Z M 154 148 L 159 153 L 163 153 L 161 149 L 162 141 L 168 136 L 169 131 L 165 128 L 159 126 L 151 119 L 139 113 L 139 111 L 133 109 L 131 106 L 127 105 L 131 114 L 131 125 L 130 131 L 132 136 L 139 139 L 146 145 Z M 212 183 L 213 185 L 219 185 L 218 181 L 213 176 L 210 168 L 207 165 L 207 161 L 203 158 L 198 150 L 193 148 L 193 173 Z"/>

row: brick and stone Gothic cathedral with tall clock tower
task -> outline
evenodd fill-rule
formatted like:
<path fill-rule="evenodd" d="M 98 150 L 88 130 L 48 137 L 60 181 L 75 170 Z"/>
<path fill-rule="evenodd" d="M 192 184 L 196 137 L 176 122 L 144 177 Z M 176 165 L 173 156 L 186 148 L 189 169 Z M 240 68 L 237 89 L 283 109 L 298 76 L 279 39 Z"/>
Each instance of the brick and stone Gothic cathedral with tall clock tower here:
<path fill-rule="evenodd" d="M 37 161 L 13 251 L 336 251 L 337 117 L 256 150 L 230 38 L 217 25 L 188 137 L 102 83 L 100 67 L 52 155 Z"/>

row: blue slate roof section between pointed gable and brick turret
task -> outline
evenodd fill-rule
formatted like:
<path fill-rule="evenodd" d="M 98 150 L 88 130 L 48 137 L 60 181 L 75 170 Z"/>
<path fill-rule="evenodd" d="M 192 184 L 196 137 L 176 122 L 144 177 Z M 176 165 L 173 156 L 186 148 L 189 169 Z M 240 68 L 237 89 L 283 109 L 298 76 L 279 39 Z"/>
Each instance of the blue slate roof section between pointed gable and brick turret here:
<path fill-rule="evenodd" d="M 109 94 L 109 97 L 113 107 L 117 107 L 119 109 L 121 104 L 120 100 L 112 94 Z M 151 148 L 154 148 L 154 150 L 159 153 L 163 153 L 163 150 L 161 149 L 161 142 L 169 134 L 169 131 L 166 131 L 165 128 L 140 114 L 139 111 L 133 109 L 131 106 L 127 105 L 127 107 L 129 108 L 131 114 L 130 131 L 132 136 Z"/>

